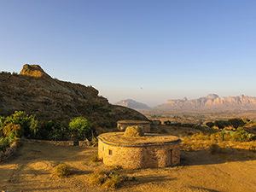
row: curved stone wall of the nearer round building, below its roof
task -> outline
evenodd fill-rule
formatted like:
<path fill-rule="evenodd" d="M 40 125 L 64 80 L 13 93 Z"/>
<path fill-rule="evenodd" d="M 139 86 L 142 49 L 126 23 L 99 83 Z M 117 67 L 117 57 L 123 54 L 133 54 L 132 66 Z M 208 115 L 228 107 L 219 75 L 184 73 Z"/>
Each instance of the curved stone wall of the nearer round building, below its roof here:
<path fill-rule="evenodd" d="M 179 143 L 151 146 L 114 146 L 99 139 L 98 157 L 107 166 L 125 169 L 176 166 L 180 161 Z"/>

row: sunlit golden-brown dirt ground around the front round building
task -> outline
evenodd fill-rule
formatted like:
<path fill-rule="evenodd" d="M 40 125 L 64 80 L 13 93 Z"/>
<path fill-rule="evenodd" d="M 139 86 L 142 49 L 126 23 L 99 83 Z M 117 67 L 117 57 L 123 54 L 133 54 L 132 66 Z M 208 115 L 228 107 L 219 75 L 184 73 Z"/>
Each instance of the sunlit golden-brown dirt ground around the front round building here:
<path fill-rule="evenodd" d="M 0 164 L 0 191 L 107 191 L 88 180 L 93 171 L 108 170 L 102 163 L 90 162 L 96 153 L 97 148 L 23 143 L 15 158 Z M 207 150 L 183 151 L 182 166 L 120 170 L 119 173 L 136 180 L 116 191 L 256 191 L 256 153 L 243 150 L 234 153 L 212 155 Z M 51 172 L 59 163 L 71 166 L 72 175 L 53 176 Z"/>

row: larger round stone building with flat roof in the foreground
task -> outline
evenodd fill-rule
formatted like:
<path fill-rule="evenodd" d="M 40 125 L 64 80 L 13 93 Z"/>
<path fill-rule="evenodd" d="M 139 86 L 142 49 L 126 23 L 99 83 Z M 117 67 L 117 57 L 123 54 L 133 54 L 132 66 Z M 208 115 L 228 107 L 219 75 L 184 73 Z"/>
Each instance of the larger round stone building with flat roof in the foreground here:
<path fill-rule="evenodd" d="M 98 140 L 98 157 L 107 166 L 140 169 L 179 164 L 181 140 L 175 136 L 145 133 L 125 137 L 124 132 L 108 132 Z"/>

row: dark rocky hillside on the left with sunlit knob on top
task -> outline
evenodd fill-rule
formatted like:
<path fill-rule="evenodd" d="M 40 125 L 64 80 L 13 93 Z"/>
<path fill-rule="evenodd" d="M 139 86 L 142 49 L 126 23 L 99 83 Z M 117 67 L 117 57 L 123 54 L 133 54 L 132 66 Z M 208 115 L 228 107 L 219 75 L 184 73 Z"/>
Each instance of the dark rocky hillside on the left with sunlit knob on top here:
<path fill-rule="evenodd" d="M 91 86 L 52 79 L 38 65 L 24 65 L 20 74 L 0 73 L 0 115 L 15 110 L 62 123 L 84 116 L 96 127 L 114 127 L 120 119 L 147 119 L 130 108 L 109 104 Z"/>

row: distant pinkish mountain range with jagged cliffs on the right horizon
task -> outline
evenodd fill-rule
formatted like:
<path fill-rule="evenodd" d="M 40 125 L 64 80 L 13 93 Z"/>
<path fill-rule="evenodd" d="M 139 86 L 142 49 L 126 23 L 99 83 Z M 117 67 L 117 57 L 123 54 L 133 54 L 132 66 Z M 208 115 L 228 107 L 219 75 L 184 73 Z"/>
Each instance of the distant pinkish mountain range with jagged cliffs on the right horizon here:
<path fill-rule="evenodd" d="M 165 104 L 155 107 L 163 110 L 253 110 L 256 109 L 256 97 L 227 96 L 220 97 L 210 94 L 199 99 L 188 100 L 186 97 L 178 100 L 168 100 Z"/>

